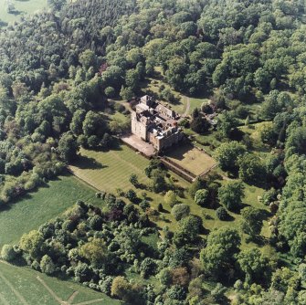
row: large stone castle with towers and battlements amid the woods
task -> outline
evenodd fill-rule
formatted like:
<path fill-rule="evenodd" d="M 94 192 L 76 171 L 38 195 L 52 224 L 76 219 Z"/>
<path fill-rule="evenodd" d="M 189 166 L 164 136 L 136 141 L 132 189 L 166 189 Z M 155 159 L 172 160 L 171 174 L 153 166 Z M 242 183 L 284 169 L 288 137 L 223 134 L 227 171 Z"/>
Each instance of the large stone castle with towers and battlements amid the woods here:
<path fill-rule="evenodd" d="M 177 115 L 164 105 L 145 95 L 132 111 L 132 133 L 153 145 L 157 152 L 173 146 L 183 139 L 177 126 Z"/>

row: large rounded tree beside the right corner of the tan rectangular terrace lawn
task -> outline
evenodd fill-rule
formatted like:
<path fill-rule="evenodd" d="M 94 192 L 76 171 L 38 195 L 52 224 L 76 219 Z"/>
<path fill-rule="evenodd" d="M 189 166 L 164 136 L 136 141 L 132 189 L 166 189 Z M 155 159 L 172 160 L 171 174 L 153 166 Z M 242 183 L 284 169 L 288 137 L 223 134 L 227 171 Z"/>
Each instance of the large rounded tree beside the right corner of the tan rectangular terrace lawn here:
<path fill-rule="evenodd" d="M 246 153 L 247 148 L 237 141 L 222 143 L 216 148 L 215 158 L 222 170 L 237 170 L 237 159 Z"/>

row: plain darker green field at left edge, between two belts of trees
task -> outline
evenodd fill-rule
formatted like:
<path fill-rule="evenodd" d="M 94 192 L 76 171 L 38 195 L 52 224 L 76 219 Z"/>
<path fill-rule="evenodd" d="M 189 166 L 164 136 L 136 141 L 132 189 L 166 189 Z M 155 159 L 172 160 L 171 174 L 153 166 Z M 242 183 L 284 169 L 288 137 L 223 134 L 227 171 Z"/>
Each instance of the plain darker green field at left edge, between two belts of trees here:
<path fill-rule="evenodd" d="M 99 204 L 95 191 L 73 175 L 59 176 L 0 211 L 0 247 L 62 214 L 78 199 Z"/>

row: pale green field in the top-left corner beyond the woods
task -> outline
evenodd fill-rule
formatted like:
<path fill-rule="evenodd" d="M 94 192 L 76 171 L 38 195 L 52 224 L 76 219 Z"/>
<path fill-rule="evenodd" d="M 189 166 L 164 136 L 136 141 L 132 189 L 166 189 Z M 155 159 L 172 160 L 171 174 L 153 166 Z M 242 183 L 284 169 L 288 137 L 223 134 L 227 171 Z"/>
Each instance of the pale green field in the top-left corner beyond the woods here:
<path fill-rule="evenodd" d="M 0 21 L 2 26 L 6 24 L 19 21 L 20 17 L 26 14 L 34 14 L 37 10 L 40 10 L 47 6 L 47 0 L 12 0 L 12 4 L 15 6 L 16 11 L 14 14 L 8 14 L 6 11 L 6 1 L 0 0 Z"/>

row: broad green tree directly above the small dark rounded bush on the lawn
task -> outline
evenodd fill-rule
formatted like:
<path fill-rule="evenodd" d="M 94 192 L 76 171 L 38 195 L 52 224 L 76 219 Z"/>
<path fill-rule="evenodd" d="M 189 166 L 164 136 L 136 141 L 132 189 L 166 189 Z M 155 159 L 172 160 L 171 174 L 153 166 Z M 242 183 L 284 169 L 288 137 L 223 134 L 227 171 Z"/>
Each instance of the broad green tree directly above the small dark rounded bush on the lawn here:
<path fill-rule="evenodd" d="M 218 190 L 218 198 L 221 205 L 227 206 L 230 211 L 236 211 L 242 205 L 244 186 L 241 182 L 229 182 Z"/>

